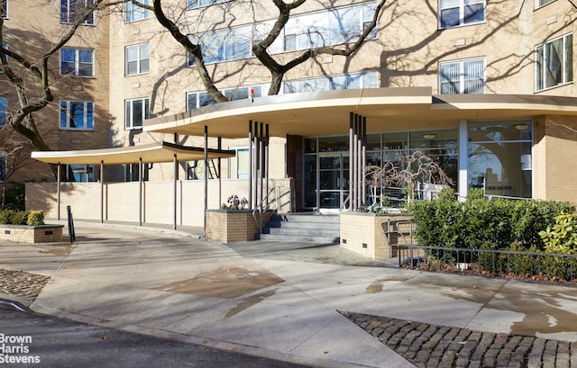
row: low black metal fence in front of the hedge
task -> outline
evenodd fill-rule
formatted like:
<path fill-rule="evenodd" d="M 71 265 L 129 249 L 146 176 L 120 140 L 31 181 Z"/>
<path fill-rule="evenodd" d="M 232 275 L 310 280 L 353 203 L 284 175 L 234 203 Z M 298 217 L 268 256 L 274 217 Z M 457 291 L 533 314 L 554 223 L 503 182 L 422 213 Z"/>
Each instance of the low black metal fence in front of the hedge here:
<path fill-rule="evenodd" d="M 409 233 L 398 246 L 398 264 L 426 271 L 458 272 L 536 281 L 577 282 L 577 255 L 497 249 L 418 246 Z"/>

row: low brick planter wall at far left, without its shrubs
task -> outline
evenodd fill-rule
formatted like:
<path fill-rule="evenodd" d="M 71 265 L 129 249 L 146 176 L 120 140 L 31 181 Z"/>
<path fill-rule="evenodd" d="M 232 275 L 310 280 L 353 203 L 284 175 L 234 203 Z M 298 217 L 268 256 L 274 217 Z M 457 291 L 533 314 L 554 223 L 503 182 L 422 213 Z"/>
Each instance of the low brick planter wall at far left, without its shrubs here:
<path fill-rule="evenodd" d="M 53 243 L 62 241 L 64 225 L 0 225 L 0 240 L 15 243 Z"/>

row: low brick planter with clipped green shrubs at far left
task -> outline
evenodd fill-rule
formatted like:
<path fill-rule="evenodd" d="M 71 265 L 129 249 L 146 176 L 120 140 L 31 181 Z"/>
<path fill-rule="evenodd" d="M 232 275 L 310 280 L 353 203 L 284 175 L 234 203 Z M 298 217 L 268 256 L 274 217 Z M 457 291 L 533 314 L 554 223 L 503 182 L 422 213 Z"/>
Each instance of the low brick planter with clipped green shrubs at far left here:
<path fill-rule="evenodd" d="M 0 240 L 18 243 L 51 243 L 62 241 L 63 225 L 44 223 L 43 211 L 0 212 Z"/>

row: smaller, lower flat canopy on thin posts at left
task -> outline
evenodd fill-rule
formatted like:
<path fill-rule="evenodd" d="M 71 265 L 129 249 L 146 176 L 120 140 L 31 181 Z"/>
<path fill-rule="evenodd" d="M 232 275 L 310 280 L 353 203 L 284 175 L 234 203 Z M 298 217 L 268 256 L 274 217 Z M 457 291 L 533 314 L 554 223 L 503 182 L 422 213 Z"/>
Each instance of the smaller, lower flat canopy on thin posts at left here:
<path fill-rule="evenodd" d="M 207 149 L 207 158 L 234 157 L 234 151 L 224 149 Z M 174 157 L 179 161 L 197 161 L 205 158 L 204 148 L 186 147 L 169 142 L 144 144 L 122 148 L 85 149 L 78 151 L 36 151 L 32 158 L 48 164 L 69 165 L 122 165 L 172 162 Z"/>

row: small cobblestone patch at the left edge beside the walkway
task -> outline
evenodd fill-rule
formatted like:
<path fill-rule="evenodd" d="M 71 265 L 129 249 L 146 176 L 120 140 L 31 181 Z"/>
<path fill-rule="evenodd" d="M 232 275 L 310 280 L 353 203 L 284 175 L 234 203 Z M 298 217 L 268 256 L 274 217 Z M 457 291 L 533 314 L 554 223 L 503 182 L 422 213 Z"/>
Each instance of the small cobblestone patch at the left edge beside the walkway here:
<path fill-rule="evenodd" d="M 35 301 L 49 281 L 49 276 L 0 268 L 0 292 L 26 301 Z"/>

